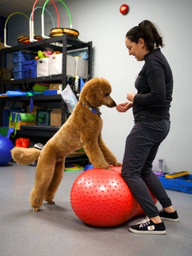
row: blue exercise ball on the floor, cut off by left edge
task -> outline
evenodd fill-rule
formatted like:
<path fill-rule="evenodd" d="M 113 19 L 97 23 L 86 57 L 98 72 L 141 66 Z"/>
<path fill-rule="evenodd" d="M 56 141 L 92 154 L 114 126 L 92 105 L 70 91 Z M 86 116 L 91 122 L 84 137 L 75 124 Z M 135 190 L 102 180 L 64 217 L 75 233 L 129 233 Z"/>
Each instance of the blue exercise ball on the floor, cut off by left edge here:
<path fill-rule="evenodd" d="M 7 164 L 11 161 L 11 149 L 14 148 L 14 144 L 10 139 L 0 135 L 0 166 Z"/>

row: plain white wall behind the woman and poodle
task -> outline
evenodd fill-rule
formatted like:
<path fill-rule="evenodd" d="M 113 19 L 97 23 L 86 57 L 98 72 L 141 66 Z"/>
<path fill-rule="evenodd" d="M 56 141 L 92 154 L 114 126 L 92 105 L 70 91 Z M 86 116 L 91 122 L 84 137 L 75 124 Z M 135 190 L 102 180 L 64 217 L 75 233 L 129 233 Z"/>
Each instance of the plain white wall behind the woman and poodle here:
<path fill-rule="evenodd" d="M 144 19 L 153 21 L 159 27 L 166 45 L 162 52 L 169 60 L 174 73 L 174 100 L 171 106 L 171 131 L 159 148 L 154 169 L 158 169 L 158 159 L 162 158 L 165 171 L 184 170 L 192 173 L 192 1 L 66 0 L 65 4 L 70 10 L 73 28 L 80 32 L 80 40 L 93 42 L 93 76 L 110 80 L 112 97 L 117 104 L 126 101 L 127 92 L 135 91 L 135 77 L 144 65 L 128 55 L 124 46 L 125 34 L 129 28 L 137 26 Z M 122 4 L 129 5 L 129 14 L 126 16 L 119 12 Z M 57 6 L 60 27 L 69 27 L 64 6 L 60 2 Z M 55 9 L 52 6 L 48 6 L 48 9 L 55 18 Z M 46 13 L 45 17 L 48 22 L 48 34 L 51 28 L 50 17 L 46 16 Z M 11 26 L 10 29 L 13 29 L 14 25 Z M 35 20 L 35 29 L 36 35 L 41 33 L 38 19 Z M 122 161 L 125 139 L 134 124 L 132 111 L 119 113 L 115 108 L 107 107 L 101 107 L 101 111 L 104 123 L 102 137 L 118 161 Z"/>

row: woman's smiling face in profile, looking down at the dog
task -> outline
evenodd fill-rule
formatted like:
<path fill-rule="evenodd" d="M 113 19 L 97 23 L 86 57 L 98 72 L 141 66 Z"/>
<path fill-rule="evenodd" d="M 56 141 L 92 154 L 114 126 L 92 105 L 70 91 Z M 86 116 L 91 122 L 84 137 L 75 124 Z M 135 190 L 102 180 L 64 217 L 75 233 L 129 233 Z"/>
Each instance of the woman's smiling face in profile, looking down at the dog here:
<path fill-rule="evenodd" d="M 125 45 L 129 50 L 129 55 L 133 55 L 138 61 L 144 60 L 144 55 L 149 53 L 149 50 L 146 50 L 146 45 L 143 38 L 139 38 L 138 43 L 134 43 L 126 37 Z"/>

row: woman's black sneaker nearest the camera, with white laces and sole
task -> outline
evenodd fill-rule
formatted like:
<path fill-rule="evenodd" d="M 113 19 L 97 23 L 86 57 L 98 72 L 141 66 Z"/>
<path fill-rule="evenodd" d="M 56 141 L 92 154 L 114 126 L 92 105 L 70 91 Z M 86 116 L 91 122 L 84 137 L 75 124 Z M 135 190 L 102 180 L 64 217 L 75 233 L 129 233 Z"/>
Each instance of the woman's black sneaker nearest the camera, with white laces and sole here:
<path fill-rule="evenodd" d="M 163 221 L 156 224 L 150 219 L 144 219 L 137 225 L 131 225 L 129 231 L 137 234 L 164 235 L 166 228 Z"/>

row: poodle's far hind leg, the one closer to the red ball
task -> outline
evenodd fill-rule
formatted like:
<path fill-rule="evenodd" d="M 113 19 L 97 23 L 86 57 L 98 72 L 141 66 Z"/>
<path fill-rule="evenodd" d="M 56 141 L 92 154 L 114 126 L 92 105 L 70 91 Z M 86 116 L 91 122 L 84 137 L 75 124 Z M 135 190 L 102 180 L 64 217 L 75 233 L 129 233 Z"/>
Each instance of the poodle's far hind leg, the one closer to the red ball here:
<path fill-rule="evenodd" d="M 54 204 L 53 198 L 55 197 L 55 193 L 58 189 L 58 186 L 60 185 L 60 181 L 63 178 L 64 174 L 64 164 L 65 159 L 62 161 L 58 161 L 55 164 L 55 172 L 52 178 L 52 181 L 50 182 L 50 185 L 48 187 L 48 190 L 46 192 L 46 196 L 44 198 L 45 201 L 47 201 L 49 204 Z"/>

